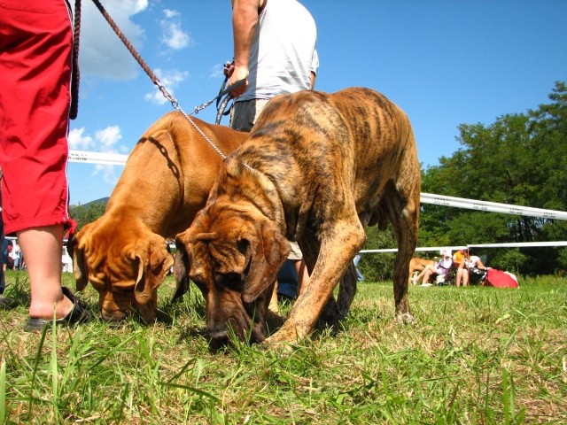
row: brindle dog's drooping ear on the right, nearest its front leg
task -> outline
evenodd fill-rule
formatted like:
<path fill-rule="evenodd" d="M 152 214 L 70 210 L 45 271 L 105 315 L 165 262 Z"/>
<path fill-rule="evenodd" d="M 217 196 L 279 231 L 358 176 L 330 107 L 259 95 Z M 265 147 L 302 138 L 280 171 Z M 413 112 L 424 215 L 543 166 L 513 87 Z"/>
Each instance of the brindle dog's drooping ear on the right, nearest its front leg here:
<path fill-rule="evenodd" d="M 245 251 L 245 270 L 248 271 L 242 292 L 245 303 L 252 303 L 268 289 L 291 251 L 290 243 L 273 221 L 260 221 L 255 235 L 249 237 L 250 239 L 245 238 L 239 242 Z"/>

